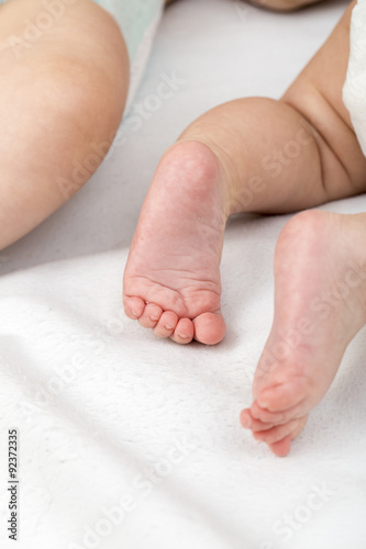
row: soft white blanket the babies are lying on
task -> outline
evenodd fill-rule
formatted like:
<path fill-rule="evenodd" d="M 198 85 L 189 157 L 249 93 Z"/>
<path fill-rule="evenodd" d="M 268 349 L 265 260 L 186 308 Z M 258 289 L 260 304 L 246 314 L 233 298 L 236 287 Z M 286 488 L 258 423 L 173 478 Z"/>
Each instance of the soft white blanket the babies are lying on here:
<path fill-rule="evenodd" d="M 126 126 L 75 199 L 0 255 L 1 549 L 15 547 L 4 528 L 12 427 L 20 549 L 364 549 L 365 332 L 288 458 L 237 421 L 270 327 L 273 254 L 289 216 L 230 222 L 221 345 L 155 339 L 121 309 L 127 247 L 165 147 L 219 102 L 278 97 L 344 8 L 174 4 L 136 98 L 151 116 Z M 148 112 L 173 72 L 176 91 Z M 324 209 L 365 211 L 366 199 Z"/>

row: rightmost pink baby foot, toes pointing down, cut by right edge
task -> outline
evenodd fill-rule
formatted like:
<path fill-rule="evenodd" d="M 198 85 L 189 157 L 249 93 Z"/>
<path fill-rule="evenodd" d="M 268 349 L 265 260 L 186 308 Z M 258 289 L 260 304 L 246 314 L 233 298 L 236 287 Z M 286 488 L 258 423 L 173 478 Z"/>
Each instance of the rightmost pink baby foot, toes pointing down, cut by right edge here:
<path fill-rule="evenodd" d="M 255 372 L 244 427 L 278 456 L 332 383 L 364 326 L 366 215 L 308 211 L 282 229 L 275 253 L 275 318 Z"/>

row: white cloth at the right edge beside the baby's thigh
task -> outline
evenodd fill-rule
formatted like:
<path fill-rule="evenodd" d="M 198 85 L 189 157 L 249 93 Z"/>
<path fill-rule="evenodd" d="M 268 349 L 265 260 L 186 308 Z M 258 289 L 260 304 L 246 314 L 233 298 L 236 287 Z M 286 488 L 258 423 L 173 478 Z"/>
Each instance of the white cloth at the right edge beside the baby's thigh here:
<path fill-rule="evenodd" d="M 352 11 L 351 49 L 343 100 L 366 156 L 366 0 L 358 0 Z"/>

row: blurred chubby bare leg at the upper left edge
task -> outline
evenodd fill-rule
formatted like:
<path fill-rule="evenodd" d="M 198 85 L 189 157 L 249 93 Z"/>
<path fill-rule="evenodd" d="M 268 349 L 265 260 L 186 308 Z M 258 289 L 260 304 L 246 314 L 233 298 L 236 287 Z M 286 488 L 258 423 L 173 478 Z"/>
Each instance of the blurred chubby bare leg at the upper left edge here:
<path fill-rule="evenodd" d="M 9 0 L 0 74 L 1 249 L 98 168 L 122 117 L 129 58 L 117 23 L 91 0 Z"/>

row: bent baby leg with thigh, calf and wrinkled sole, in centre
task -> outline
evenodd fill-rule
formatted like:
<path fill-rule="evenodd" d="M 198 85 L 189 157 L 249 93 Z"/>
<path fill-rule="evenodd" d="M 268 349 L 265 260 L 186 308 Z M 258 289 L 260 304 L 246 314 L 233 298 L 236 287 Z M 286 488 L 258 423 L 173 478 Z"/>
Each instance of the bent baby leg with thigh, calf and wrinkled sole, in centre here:
<path fill-rule="evenodd" d="M 228 216 L 291 212 L 363 192 L 366 160 L 341 98 L 348 23 L 350 10 L 280 101 L 220 105 L 165 153 L 124 273 L 131 318 L 178 343 L 220 341 Z"/>

